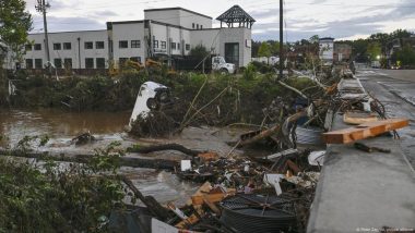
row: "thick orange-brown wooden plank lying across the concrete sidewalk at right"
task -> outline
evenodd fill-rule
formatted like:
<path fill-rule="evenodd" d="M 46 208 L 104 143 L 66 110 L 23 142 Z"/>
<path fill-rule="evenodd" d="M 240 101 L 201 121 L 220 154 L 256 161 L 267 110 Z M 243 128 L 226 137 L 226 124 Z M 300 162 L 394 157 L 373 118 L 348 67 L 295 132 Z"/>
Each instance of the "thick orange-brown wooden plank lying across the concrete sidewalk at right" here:
<path fill-rule="evenodd" d="M 386 132 L 405 127 L 410 124 L 407 119 L 388 119 L 368 122 L 355 127 L 347 127 L 323 134 L 327 144 L 348 144 L 355 140 L 375 137 Z"/>

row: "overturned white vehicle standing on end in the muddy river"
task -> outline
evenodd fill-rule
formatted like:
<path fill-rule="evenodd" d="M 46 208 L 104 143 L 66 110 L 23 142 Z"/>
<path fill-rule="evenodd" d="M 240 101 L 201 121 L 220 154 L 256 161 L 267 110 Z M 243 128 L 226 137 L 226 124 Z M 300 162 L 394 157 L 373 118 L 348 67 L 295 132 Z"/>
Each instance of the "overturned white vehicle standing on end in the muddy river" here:
<path fill-rule="evenodd" d="M 137 96 L 134 109 L 129 122 L 129 130 L 132 123 L 140 116 L 145 119 L 152 110 L 158 110 L 163 106 L 173 103 L 170 89 L 162 84 L 154 82 L 145 82 L 140 87 Z"/>

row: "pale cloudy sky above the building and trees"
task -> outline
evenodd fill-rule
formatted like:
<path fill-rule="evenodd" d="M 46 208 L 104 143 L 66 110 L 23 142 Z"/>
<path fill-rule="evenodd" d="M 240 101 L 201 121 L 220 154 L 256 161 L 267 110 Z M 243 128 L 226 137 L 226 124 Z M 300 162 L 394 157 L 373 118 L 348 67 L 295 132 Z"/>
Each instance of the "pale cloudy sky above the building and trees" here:
<path fill-rule="evenodd" d="M 37 0 L 26 0 L 33 14 L 33 33 L 43 32 Z M 252 38 L 278 38 L 277 0 L 49 0 L 49 32 L 105 29 L 107 21 L 143 20 L 144 9 L 181 7 L 217 17 L 239 4 L 253 19 Z M 214 21 L 214 26 L 217 22 Z M 398 28 L 415 30 L 414 0 L 285 0 L 288 41 L 331 36 L 339 39 L 365 38 L 372 33 Z"/>

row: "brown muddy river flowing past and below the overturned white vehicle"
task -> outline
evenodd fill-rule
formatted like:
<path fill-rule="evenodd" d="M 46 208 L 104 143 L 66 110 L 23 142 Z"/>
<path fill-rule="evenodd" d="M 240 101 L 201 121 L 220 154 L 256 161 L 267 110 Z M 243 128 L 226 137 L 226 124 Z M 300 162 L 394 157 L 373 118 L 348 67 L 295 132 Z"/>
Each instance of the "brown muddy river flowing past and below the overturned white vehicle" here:
<path fill-rule="evenodd" d="M 200 150 L 214 150 L 225 156 L 232 148 L 226 142 L 236 140 L 240 130 L 220 130 L 212 127 L 189 127 L 180 135 L 168 138 L 134 138 L 124 132 L 130 112 L 64 112 L 59 110 L 3 110 L 0 109 L 0 147 L 13 147 L 24 136 L 48 135 L 50 140 L 36 150 L 66 154 L 93 154 L 111 142 L 121 142 L 123 147 L 132 144 L 149 145 L 178 143 Z M 91 132 L 97 142 L 75 146 L 71 139 L 82 133 Z M 235 154 L 241 154 L 236 150 Z M 150 155 L 128 155 L 132 157 L 154 157 L 163 159 L 183 159 L 175 151 Z M 166 171 L 153 169 L 121 168 L 144 195 L 153 195 L 158 201 L 183 204 L 195 192 L 199 184 L 180 181 Z"/>

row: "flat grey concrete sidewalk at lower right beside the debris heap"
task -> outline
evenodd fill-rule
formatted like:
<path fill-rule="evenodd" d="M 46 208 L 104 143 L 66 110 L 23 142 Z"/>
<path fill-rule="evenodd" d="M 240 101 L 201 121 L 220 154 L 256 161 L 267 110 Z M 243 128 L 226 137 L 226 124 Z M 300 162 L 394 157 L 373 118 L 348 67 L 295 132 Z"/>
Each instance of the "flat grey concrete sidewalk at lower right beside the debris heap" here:
<path fill-rule="evenodd" d="M 332 128 L 344 127 L 342 115 L 335 115 Z M 376 232 L 384 226 L 415 231 L 415 171 L 399 143 L 388 136 L 361 143 L 392 152 L 329 145 L 308 232 Z"/>

